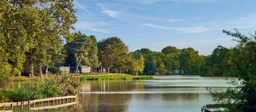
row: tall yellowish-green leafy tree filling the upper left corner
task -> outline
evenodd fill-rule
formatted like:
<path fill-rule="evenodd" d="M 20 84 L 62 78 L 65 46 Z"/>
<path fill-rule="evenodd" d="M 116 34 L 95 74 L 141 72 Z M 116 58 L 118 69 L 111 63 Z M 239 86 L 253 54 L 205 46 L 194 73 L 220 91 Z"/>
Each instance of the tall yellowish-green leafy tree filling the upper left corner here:
<path fill-rule="evenodd" d="M 48 39 L 57 41 L 61 39 L 60 37 L 65 37 L 67 41 L 73 39 L 69 30 L 74 29 L 72 25 L 77 19 L 72 1 L 0 1 L 0 52 L 5 54 L 2 63 L 7 62 L 12 66 L 12 74 L 22 71 L 25 61 L 32 65 L 32 73 L 33 66 L 38 66 L 38 62 L 48 63 L 46 57 L 51 57 L 46 53 L 48 49 L 39 47 L 57 44 L 54 43 L 55 41 L 47 43 Z M 60 51 L 57 49 L 59 47 L 52 48 L 56 52 Z"/>

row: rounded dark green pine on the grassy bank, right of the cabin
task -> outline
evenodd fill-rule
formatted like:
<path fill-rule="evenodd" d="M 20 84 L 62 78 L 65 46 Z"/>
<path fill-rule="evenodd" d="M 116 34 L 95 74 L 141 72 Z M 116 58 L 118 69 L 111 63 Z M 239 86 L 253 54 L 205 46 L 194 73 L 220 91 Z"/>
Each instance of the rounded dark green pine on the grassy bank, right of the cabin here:
<path fill-rule="evenodd" d="M 99 61 L 108 69 L 108 73 L 113 65 L 122 66 L 127 52 L 128 47 L 117 37 L 109 37 L 98 42 Z"/>

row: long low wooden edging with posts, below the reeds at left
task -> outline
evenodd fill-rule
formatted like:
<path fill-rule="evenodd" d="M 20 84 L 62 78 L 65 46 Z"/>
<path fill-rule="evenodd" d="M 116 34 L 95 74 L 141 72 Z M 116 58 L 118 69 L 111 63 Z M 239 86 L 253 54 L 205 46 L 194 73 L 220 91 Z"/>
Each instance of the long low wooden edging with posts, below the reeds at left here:
<path fill-rule="evenodd" d="M 33 100 L 33 101 L 0 103 L 0 107 L 2 107 L 2 110 L 0 110 L 0 112 L 9 112 L 9 110 L 5 110 L 5 107 L 11 107 L 10 112 L 12 112 L 13 106 L 18 106 L 18 105 L 21 105 L 22 109 L 23 109 L 23 105 L 28 105 L 29 110 L 30 110 L 30 105 L 33 105 L 33 110 L 36 110 L 37 109 L 36 108 L 36 103 L 40 103 L 41 107 L 43 107 L 44 102 L 47 102 L 46 106 L 49 106 L 50 102 L 52 102 L 52 104 L 55 107 L 58 107 L 58 105 L 60 105 L 60 107 L 62 107 L 62 106 L 65 106 L 65 105 L 72 105 L 72 103 L 70 103 L 70 102 L 75 102 L 75 101 L 77 101 L 77 96 L 62 96 L 62 97 L 37 99 L 37 100 Z M 69 104 L 67 104 L 67 103 L 69 103 Z M 65 105 L 61 105 L 61 104 L 65 104 Z"/>

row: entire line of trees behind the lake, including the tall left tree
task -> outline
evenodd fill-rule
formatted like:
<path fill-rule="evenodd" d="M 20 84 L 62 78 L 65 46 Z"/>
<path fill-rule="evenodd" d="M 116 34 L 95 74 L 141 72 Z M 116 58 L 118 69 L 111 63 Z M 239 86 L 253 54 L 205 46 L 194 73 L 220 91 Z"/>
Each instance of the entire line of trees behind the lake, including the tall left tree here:
<path fill-rule="evenodd" d="M 118 37 L 97 42 L 74 29 L 77 17 L 73 0 L 2 0 L 0 2 L 0 75 L 42 75 L 41 66 L 102 65 L 107 72 L 133 75 L 170 75 L 183 70 L 187 75 L 223 76 L 226 54 L 232 49 L 218 46 L 208 56 L 193 48 L 173 46 L 161 52 L 142 48 L 129 52 Z M 67 42 L 64 43 L 64 39 Z"/>

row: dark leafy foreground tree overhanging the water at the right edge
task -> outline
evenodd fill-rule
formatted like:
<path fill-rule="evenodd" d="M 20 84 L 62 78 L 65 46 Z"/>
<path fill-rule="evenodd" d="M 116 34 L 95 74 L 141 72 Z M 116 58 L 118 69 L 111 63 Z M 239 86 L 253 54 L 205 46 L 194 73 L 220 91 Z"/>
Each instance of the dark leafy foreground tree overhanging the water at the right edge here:
<path fill-rule="evenodd" d="M 256 112 L 256 32 L 251 37 L 223 30 L 235 37 L 239 44 L 231 48 L 225 55 L 229 71 L 225 75 L 236 76 L 239 80 L 230 83 L 235 88 L 228 88 L 225 94 L 218 98 L 226 112 Z"/>

